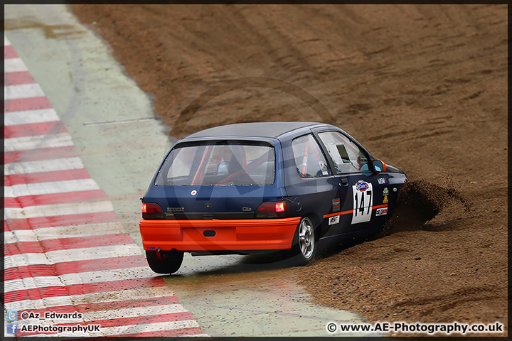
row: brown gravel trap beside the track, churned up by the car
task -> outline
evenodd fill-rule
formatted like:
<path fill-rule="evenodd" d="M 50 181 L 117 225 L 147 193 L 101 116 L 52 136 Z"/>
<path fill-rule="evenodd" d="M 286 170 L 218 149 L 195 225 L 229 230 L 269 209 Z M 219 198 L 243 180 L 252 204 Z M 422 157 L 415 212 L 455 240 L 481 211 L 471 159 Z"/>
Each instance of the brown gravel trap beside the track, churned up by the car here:
<path fill-rule="evenodd" d="M 226 80 L 313 94 L 412 182 L 378 238 L 287 269 L 317 303 L 370 321 L 507 325 L 506 5 L 73 5 L 181 136 L 240 121 L 321 121 Z M 183 129 L 183 131 L 182 131 Z M 173 131 L 171 131 L 173 134 Z"/>

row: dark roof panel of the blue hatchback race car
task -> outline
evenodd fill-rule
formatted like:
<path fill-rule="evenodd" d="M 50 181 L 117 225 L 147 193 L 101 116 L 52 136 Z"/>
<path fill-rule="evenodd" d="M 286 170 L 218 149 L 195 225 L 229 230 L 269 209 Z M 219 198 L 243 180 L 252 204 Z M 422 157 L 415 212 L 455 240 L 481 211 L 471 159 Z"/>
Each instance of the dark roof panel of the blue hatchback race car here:
<path fill-rule="evenodd" d="M 305 128 L 307 126 L 325 125 L 319 122 L 253 122 L 228 124 L 226 126 L 215 126 L 214 128 L 198 131 L 197 133 L 186 136 L 186 139 L 196 139 L 201 137 L 221 137 L 221 136 L 240 136 L 240 137 L 267 137 L 277 138 L 289 131 Z"/>

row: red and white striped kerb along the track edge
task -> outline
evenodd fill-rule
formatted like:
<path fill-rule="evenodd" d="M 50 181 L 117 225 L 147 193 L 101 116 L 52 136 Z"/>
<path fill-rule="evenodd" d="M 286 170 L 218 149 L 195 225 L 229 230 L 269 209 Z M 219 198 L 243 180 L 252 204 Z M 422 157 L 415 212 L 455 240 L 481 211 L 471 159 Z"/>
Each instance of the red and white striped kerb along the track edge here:
<path fill-rule="evenodd" d="M 7 38 L 4 65 L 4 309 L 18 312 L 16 336 L 207 336 L 147 267 Z M 35 317 L 47 312 L 80 316 Z M 100 328 L 64 329 L 75 325 Z"/>

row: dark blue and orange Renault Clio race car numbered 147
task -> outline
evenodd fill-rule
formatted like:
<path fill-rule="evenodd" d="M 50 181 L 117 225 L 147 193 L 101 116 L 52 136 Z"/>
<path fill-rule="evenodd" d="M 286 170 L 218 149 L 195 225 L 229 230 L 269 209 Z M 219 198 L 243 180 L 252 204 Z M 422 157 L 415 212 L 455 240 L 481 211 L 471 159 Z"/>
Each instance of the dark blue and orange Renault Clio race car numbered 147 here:
<path fill-rule="evenodd" d="M 176 141 L 142 198 L 147 261 L 172 274 L 183 252 L 284 250 L 304 265 L 320 242 L 378 232 L 406 180 L 330 124 L 199 131 Z"/>

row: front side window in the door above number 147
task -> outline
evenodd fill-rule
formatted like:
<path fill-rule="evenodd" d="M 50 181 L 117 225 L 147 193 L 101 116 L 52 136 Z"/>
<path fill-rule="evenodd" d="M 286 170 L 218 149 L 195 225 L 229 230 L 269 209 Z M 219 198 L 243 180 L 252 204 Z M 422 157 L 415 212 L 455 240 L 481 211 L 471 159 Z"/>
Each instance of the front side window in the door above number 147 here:
<path fill-rule="evenodd" d="M 368 158 L 356 144 L 337 131 L 319 133 L 334 162 L 336 174 L 370 172 Z"/>

